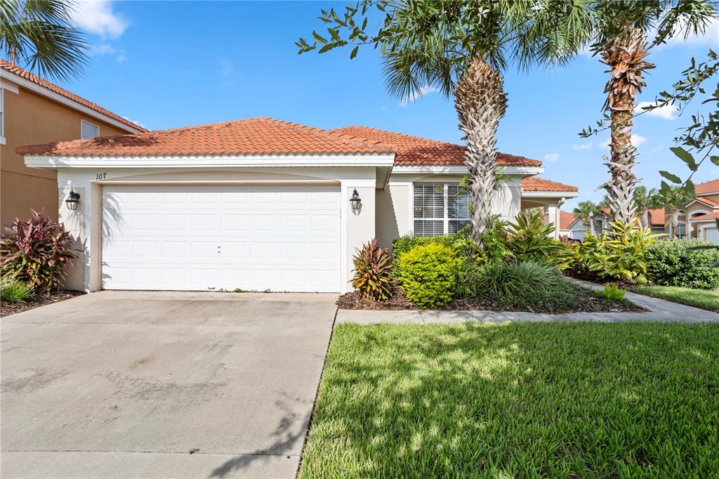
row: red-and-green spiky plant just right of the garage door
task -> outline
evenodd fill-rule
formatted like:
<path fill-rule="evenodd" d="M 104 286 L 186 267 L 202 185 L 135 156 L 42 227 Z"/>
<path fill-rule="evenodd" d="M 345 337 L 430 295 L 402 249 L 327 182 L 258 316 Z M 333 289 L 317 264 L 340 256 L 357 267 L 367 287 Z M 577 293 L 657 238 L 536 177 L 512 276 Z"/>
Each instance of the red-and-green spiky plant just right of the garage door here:
<path fill-rule="evenodd" d="M 382 301 L 392 296 L 392 264 L 387 248 L 377 246 L 372 239 L 352 257 L 354 277 L 352 286 L 362 299 Z"/>

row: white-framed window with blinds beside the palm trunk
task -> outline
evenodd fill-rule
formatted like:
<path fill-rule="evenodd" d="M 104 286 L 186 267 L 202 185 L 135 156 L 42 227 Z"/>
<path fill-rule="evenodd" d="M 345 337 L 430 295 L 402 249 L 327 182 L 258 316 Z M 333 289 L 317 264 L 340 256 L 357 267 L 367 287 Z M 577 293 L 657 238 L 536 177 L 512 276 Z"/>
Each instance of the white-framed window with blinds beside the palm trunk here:
<path fill-rule="evenodd" d="M 414 183 L 414 235 L 456 233 L 470 222 L 470 196 L 457 183 Z"/>

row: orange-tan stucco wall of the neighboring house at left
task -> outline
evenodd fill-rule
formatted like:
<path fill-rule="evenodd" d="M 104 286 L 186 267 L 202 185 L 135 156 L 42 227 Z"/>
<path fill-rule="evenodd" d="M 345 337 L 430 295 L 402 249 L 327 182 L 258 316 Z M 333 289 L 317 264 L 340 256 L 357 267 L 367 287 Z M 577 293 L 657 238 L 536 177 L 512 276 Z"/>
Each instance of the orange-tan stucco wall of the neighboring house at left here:
<path fill-rule="evenodd" d="M 3 116 L 6 141 L 0 145 L 0 222 L 4 225 L 16 216 L 27 219 L 31 208 L 45 208 L 52 219 L 58 219 L 57 174 L 27 168 L 16 147 L 78 139 L 81 120 L 98 125 L 100 136 L 127 133 L 22 86 L 17 93 L 4 89 Z"/>

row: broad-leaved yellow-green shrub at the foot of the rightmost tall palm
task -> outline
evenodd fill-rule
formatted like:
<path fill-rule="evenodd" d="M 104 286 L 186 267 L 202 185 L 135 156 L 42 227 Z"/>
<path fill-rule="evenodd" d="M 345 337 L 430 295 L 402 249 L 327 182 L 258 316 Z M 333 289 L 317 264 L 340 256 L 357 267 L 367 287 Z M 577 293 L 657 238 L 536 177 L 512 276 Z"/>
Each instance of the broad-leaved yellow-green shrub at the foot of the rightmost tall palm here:
<path fill-rule="evenodd" d="M 640 275 L 646 276 L 649 247 L 661 235 L 632 224 L 613 222 L 610 226 L 610 232 L 598 236 L 587 234 L 582 242 L 570 246 L 569 270 L 575 275 L 599 280 L 634 282 Z"/>

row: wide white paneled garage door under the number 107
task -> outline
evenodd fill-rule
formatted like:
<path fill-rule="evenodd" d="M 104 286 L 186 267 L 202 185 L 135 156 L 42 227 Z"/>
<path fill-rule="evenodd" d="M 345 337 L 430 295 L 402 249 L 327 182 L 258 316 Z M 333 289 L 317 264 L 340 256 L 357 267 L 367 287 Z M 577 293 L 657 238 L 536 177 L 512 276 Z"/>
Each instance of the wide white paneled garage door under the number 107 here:
<path fill-rule="evenodd" d="M 106 289 L 340 291 L 339 186 L 105 186 Z"/>

